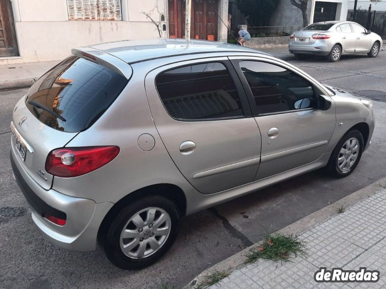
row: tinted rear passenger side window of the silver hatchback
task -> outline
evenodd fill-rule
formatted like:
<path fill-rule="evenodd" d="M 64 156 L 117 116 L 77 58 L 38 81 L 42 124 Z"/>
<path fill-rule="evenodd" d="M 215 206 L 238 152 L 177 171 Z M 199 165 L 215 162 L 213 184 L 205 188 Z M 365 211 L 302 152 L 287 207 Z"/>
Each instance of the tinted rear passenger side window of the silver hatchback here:
<path fill-rule="evenodd" d="M 243 115 L 235 85 L 220 62 L 168 70 L 157 76 L 156 87 L 169 115 L 176 119 Z"/>

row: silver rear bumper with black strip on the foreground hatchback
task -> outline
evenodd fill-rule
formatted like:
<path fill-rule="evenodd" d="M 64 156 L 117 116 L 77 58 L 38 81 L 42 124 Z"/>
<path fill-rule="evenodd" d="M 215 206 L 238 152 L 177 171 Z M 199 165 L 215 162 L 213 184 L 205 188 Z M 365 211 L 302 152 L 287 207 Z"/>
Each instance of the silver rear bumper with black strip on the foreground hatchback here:
<path fill-rule="evenodd" d="M 10 160 L 15 180 L 32 210 L 32 219 L 44 237 L 63 249 L 94 250 L 99 226 L 113 203 L 97 204 L 93 200 L 70 197 L 56 190 L 44 190 L 24 170 L 13 148 Z M 58 226 L 45 219 L 45 214 L 65 216 L 66 224 Z"/>

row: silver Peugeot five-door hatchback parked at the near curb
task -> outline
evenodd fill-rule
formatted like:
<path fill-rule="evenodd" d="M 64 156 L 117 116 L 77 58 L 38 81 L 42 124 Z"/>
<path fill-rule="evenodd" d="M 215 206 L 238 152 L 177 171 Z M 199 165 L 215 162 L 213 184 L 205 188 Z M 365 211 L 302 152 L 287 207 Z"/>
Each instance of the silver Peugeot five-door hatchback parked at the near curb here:
<path fill-rule="evenodd" d="M 181 217 L 326 167 L 370 144 L 369 100 L 257 50 L 182 39 L 72 50 L 17 102 L 10 158 L 44 236 L 97 241 L 123 269 L 168 251 Z"/>

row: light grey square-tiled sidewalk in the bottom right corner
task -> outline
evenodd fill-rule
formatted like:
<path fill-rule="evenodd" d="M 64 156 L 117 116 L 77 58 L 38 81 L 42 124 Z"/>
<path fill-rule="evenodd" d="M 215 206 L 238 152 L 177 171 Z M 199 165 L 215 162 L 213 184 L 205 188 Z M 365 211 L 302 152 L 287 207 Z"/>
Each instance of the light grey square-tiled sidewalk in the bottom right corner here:
<path fill-rule="evenodd" d="M 232 272 L 210 289 L 323 289 L 386 287 L 386 190 L 347 208 L 303 232 L 306 257 L 278 263 L 259 260 Z M 319 267 L 331 270 L 378 270 L 376 283 L 317 283 L 313 276 Z"/>

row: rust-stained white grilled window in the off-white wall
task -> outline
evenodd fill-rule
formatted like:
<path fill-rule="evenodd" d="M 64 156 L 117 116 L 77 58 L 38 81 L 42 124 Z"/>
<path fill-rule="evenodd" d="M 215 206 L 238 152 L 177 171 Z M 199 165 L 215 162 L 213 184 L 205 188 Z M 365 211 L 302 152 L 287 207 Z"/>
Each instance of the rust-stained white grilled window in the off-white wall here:
<path fill-rule="evenodd" d="M 69 20 L 122 20 L 120 0 L 67 0 Z"/>

